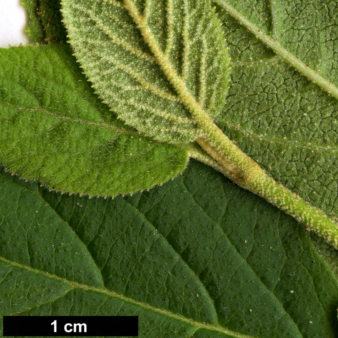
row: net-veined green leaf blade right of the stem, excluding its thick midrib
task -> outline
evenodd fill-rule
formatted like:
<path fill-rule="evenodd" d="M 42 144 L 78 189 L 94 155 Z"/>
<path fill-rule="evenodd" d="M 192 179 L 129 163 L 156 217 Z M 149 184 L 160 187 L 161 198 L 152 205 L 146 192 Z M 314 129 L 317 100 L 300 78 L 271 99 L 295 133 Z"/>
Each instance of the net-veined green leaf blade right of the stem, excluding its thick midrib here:
<path fill-rule="evenodd" d="M 320 1 L 227 1 L 334 86 L 338 7 Z M 338 215 L 337 100 L 217 7 L 232 57 L 232 86 L 217 124 L 274 179 Z"/>

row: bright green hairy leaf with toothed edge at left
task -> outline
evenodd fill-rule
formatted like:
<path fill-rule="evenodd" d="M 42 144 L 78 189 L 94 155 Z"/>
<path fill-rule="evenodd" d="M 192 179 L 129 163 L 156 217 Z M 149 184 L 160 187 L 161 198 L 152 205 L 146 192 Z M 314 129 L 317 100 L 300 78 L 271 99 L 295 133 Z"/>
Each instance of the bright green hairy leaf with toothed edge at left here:
<path fill-rule="evenodd" d="M 140 135 L 93 94 L 67 46 L 0 49 L 0 163 L 69 193 L 115 196 L 182 172 L 187 153 Z"/>

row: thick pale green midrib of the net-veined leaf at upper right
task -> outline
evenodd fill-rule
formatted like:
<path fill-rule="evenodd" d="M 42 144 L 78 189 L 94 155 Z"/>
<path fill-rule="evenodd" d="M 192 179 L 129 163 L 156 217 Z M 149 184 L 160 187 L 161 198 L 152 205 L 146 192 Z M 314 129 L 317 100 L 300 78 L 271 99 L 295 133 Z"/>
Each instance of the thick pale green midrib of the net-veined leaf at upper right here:
<path fill-rule="evenodd" d="M 298 70 L 303 75 L 316 84 L 319 87 L 327 91 L 329 94 L 338 99 L 338 88 L 327 79 L 318 74 L 318 70 L 313 70 L 307 66 L 304 62 L 300 61 L 296 56 L 292 55 L 282 45 L 280 45 L 275 39 L 269 37 L 264 31 L 261 31 L 254 23 L 248 20 L 239 10 L 235 9 L 230 4 L 223 0 L 213 0 L 216 4 L 224 8 L 232 17 L 237 19 L 245 28 L 247 28 L 252 34 L 260 39 L 264 44 L 269 46 L 276 54 L 278 54 L 284 61 L 289 63 L 292 67 Z"/>

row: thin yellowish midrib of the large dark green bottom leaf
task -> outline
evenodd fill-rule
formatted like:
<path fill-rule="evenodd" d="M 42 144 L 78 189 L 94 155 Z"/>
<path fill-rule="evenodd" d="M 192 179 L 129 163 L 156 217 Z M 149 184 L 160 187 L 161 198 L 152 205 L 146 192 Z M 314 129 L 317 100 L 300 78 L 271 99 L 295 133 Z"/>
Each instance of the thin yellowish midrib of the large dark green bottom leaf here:
<path fill-rule="evenodd" d="M 41 270 L 38 270 L 38 269 L 34 269 L 34 268 L 31 268 L 29 266 L 26 266 L 26 265 L 23 265 L 23 264 L 20 264 L 20 263 L 17 263 L 17 262 L 10 261 L 10 260 L 5 259 L 4 257 L 1 257 L 1 256 L 0 256 L 0 260 L 3 261 L 3 262 L 8 263 L 10 265 L 16 266 L 18 268 L 25 269 L 25 270 L 28 270 L 28 271 L 32 271 L 32 272 L 34 272 L 36 274 L 44 275 L 46 277 L 53 278 L 53 279 L 55 279 L 57 281 L 69 284 L 70 288 L 67 290 L 67 293 L 69 291 L 71 291 L 71 290 L 76 289 L 76 288 L 79 288 L 79 289 L 82 289 L 82 290 L 90 290 L 90 291 L 94 291 L 94 292 L 99 292 L 101 294 L 105 294 L 106 296 L 119 298 L 119 299 L 121 299 L 121 300 L 123 300 L 123 301 L 125 301 L 127 303 L 131 303 L 131 304 L 140 306 L 140 307 L 142 307 L 144 309 L 151 310 L 151 311 L 157 312 L 157 313 L 161 313 L 161 314 L 163 314 L 163 315 L 165 315 L 167 317 L 183 321 L 183 322 L 188 323 L 188 324 L 192 325 L 193 327 L 195 327 L 196 330 L 198 330 L 198 329 L 207 329 L 209 331 L 217 331 L 219 333 L 231 335 L 231 336 L 233 336 L 235 338 L 255 338 L 253 336 L 248 336 L 248 335 L 244 335 L 244 334 L 240 334 L 240 333 L 237 333 L 237 332 L 234 332 L 234 331 L 227 330 L 227 329 L 225 329 L 223 327 L 220 327 L 220 326 L 216 326 L 216 325 L 214 326 L 212 324 L 201 323 L 201 322 L 195 321 L 193 319 L 186 318 L 186 317 L 184 317 L 182 315 L 173 314 L 173 313 L 171 313 L 171 312 L 169 312 L 167 310 L 155 308 L 155 307 L 153 307 L 153 306 L 151 306 L 149 304 L 136 301 L 136 300 L 134 300 L 132 298 L 128 298 L 128 297 L 126 297 L 124 295 L 118 294 L 118 293 L 116 293 L 114 291 L 111 291 L 111 290 L 108 290 L 108 289 L 105 289 L 105 288 L 96 288 L 96 287 L 93 287 L 93 286 L 89 286 L 89 285 L 85 285 L 85 284 L 80 284 L 80 283 L 77 283 L 77 282 L 69 281 L 69 280 L 67 280 L 65 278 L 58 277 L 58 276 L 56 276 L 54 274 L 51 274 L 51 273 L 48 273 L 48 272 L 45 272 L 45 271 L 41 271 Z M 60 298 L 60 295 L 57 296 L 56 298 Z M 55 299 L 52 299 L 52 300 L 48 301 L 47 303 L 50 303 L 50 302 L 54 301 Z M 38 306 L 41 306 L 41 305 L 42 304 L 40 304 Z M 23 311 L 20 311 L 20 312 L 17 312 L 17 313 L 12 313 L 12 314 L 9 314 L 9 315 L 18 315 L 20 313 L 24 313 L 24 312 L 29 311 L 29 310 L 30 310 L 30 308 L 27 309 L 27 310 L 23 310 Z M 256 337 L 256 338 L 258 338 L 258 337 Z"/>

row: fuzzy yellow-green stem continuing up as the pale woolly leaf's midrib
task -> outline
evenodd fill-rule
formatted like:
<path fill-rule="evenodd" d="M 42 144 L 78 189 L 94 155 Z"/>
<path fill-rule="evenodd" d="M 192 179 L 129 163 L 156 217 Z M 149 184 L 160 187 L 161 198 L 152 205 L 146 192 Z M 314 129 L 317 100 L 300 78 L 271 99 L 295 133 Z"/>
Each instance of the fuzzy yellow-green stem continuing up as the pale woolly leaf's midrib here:
<path fill-rule="evenodd" d="M 223 168 L 223 173 L 240 187 L 263 197 L 298 221 L 305 223 L 310 230 L 317 232 L 338 248 L 337 223 L 300 196 L 277 183 L 216 126 L 171 66 L 147 26 L 146 19 L 139 14 L 133 1 L 124 0 L 123 4 L 139 28 L 156 63 L 170 81 L 179 99 L 190 111 L 199 130 L 196 142 Z"/>

